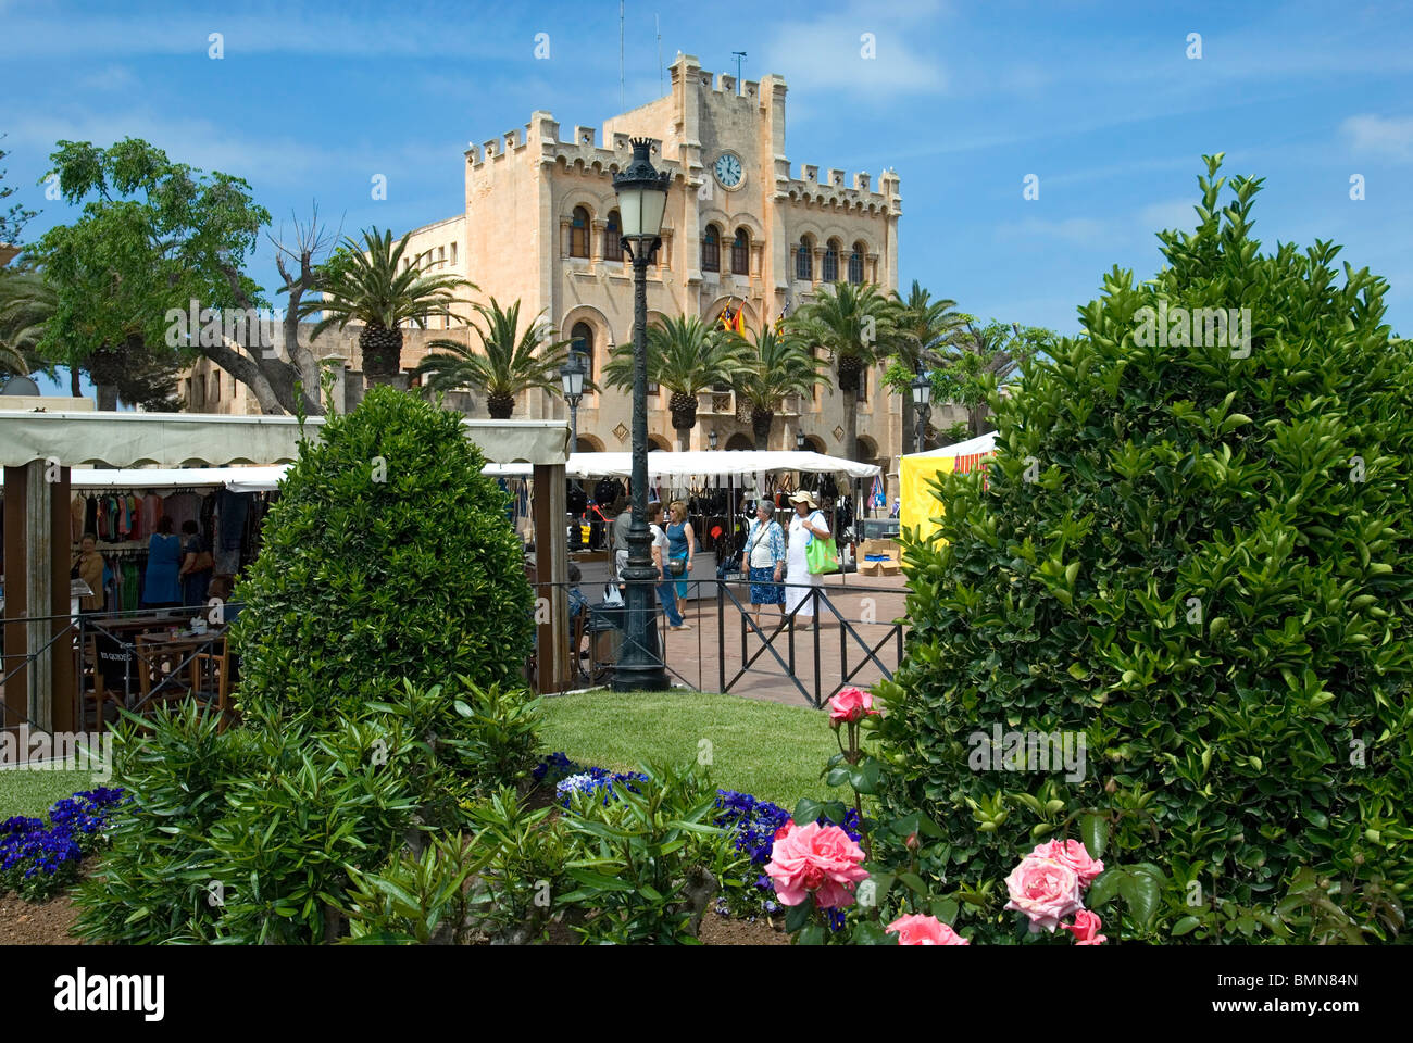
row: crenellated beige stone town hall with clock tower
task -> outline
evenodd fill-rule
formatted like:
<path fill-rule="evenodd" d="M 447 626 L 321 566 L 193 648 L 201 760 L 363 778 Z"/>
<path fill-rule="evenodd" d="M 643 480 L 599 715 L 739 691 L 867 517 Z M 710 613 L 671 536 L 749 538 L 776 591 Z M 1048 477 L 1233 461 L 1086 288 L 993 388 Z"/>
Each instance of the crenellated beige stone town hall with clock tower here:
<path fill-rule="evenodd" d="M 680 55 L 671 78 L 670 95 L 609 119 L 602 136 L 582 126 L 565 136 L 548 112 L 536 112 L 523 130 L 472 144 L 465 154 L 465 212 L 415 229 L 406 263 L 469 278 L 480 300 L 507 305 L 519 298 L 521 322 L 543 312 L 558 339 L 588 349 L 598 377 L 609 349 L 633 335 L 632 266 L 619 250 L 613 174 L 630 158 L 629 139 L 649 137 L 654 165 L 673 175 L 663 246 L 647 271 L 649 322 L 682 314 L 716 321 L 723 308 L 745 307 L 755 329 L 834 281 L 897 288 L 897 174 L 885 171 L 875 185 L 868 174 L 821 174 L 808 164 L 791 171 L 786 83 L 779 76 L 738 85 Z M 359 370 L 356 332 L 322 336 L 315 350 L 342 356 Z M 425 353 L 427 339 L 448 336 L 444 329 L 407 334 L 407 369 Z M 451 335 L 478 343 L 465 328 Z M 861 389 L 859 455 L 889 471 L 890 458 L 903 451 L 901 414 L 899 397 L 880 389 L 880 375 L 882 367 L 869 370 Z M 188 407 L 256 411 L 253 397 L 250 406 L 240 403 L 243 386 L 236 386 L 235 400 L 209 401 L 202 394 L 208 382 L 198 376 L 184 384 L 189 396 L 206 399 Z M 223 383 L 229 387 L 229 377 Z M 671 449 L 677 438 L 668 396 L 649 390 L 650 442 Z M 473 396 L 469 413 L 485 416 L 482 396 Z M 567 414 L 557 394 L 531 391 L 513 416 Z M 803 431 L 812 448 L 839 454 L 842 418 L 842 394 L 828 386 L 812 401 L 793 396 L 776 413 L 770 447 L 794 448 Z M 627 393 L 586 394 L 579 448 L 627 449 L 630 425 Z M 719 448 L 753 448 L 749 413 L 738 414 L 729 391 L 701 396 L 691 447 L 706 448 L 711 431 Z"/>

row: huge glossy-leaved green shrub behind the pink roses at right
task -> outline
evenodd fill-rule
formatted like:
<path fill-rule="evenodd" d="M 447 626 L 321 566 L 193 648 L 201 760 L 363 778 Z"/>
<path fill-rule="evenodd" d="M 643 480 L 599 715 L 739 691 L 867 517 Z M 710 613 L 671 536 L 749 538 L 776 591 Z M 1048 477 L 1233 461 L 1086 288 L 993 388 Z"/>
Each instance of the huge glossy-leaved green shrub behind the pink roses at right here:
<path fill-rule="evenodd" d="M 1084 332 L 992 396 L 985 483 L 942 479 L 945 543 L 906 550 L 882 800 L 941 824 L 927 875 L 982 941 L 1017 919 L 989 882 L 1081 835 L 1139 868 L 1091 892 L 1111 936 L 1403 924 L 1413 352 L 1386 283 L 1332 269 L 1340 247 L 1262 253 L 1260 181 L 1232 178 L 1224 205 L 1219 164 L 1197 230 L 1160 235 L 1164 269 L 1111 271 Z M 1224 342 L 1215 319 L 1193 329 L 1200 308 L 1248 311 Z M 1080 733 L 1082 780 L 989 759 L 996 725 Z"/>

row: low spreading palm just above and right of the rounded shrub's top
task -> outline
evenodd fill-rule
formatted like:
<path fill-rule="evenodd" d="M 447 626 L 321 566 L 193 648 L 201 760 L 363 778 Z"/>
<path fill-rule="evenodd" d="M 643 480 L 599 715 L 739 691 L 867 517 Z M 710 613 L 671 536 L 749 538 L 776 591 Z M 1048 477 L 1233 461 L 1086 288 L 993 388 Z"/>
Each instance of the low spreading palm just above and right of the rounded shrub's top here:
<path fill-rule="evenodd" d="M 476 304 L 485 328 L 473 325 L 482 352 L 456 341 L 431 341 L 428 348 L 445 349 L 422 359 L 417 372 L 428 394 L 475 387 L 486 396 L 486 410 L 495 420 L 509 420 L 516 399 L 533 387 L 554 390 L 560 386 L 560 366 L 568 358 L 569 341 L 550 341 L 548 326 L 540 315 L 520 332 L 520 301 L 502 310 L 495 297 L 490 304 Z"/>

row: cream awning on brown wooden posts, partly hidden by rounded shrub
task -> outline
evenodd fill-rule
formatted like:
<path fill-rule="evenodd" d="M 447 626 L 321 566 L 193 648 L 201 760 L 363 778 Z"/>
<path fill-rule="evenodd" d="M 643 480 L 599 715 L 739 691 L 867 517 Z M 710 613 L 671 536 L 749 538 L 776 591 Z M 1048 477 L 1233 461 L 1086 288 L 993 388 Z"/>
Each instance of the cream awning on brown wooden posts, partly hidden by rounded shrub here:
<path fill-rule="evenodd" d="M 304 423 L 318 437 L 324 417 Z M 564 464 L 568 452 L 562 420 L 463 420 L 462 428 L 486 459 L 502 464 Z M 0 410 L 0 466 L 51 458 L 62 466 L 271 465 L 292 462 L 298 444 L 295 417 Z"/>

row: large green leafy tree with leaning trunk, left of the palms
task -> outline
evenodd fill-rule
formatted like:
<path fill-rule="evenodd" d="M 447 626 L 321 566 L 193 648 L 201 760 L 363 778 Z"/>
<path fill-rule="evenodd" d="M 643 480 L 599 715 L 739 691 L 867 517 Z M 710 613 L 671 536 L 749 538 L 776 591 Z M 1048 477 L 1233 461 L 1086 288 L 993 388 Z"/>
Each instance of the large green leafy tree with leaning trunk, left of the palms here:
<path fill-rule="evenodd" d="M 175 329 L 171 318 L 188 315 L 192 301 L 198 318 L 201 310 L 249 314 L 268 307 L 261 288 L 243 274 L 260 229 L 270 222 L 246 181 L 172 163 L 138 139 L 112 148 L 59 141 L 51 161 L 64 198 L 82 202 L 83 213 L 27 249 L 58 297 L 41 350 L 55 362 L 86 367 L 102 408 L 113 407 L 124 373 L 167 380 L 203 356 L 249 386 L 263 413 L 324 411 L 318 360 L 298 336 L 300 305 L 326 247 L 318 211 L 308 223 L 294 223 L 288 242 L 270 236 L 284 280 L 278 293 L 288 298 L 281 342 L 271 349 L 254 324 L 236 336 L 209 329 L 202 335 L 189 322 L 185 332 Z M 137 390 L 130 387 L 123 397 L 140 400 Z M 155 391 L 165 397 L 162 387 Z"/>

